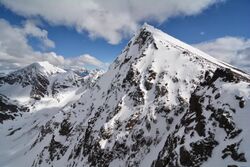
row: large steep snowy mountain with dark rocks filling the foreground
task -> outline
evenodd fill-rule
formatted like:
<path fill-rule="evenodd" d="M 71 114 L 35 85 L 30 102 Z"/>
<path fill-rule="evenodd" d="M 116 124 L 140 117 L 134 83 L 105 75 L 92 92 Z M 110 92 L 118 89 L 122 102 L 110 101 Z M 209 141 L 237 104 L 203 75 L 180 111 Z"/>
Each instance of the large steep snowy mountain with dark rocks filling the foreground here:
<path fill-rule="evenodd" d="M 246 166 L 249 83 L 145 24 L 79 98 L 5 121 L 0 165 Z"/>

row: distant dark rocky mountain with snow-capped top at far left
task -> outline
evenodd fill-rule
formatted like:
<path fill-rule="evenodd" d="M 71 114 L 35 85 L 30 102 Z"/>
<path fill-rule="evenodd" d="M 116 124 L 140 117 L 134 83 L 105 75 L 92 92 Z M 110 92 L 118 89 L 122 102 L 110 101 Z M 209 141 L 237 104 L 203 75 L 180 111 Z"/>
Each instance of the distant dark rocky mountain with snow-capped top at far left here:
<path fill-rule="evenodd" d="M 20 88 L 30 89 L 27 90 L 26 93 L 29 93 L 30 97 L 34 99 L 39 99 L 41 97 L 44 97 L 45 95 L 48 95 L 49 93 L 47 90 L 47 86 L 49 85 L 48 77 L 53 74 L 63 72 L 65 71 L 49 64 L 48 62 L 33 63 L 21 70 L 12 72 L 7 76 L 1 77 L 0 85 L 2 91 L 8 91 L 8 93 L 6 92 L 8 96 L 13 95 L 16 97 L 16 89 L 19 88 L 13 88 L 14 92 L 9 92 L 6 86 L 11 85 L 11 87 L 13 87 L 13 85 L 16 85 Z M 21 91 L 25 92 L 24 90 Z"/>

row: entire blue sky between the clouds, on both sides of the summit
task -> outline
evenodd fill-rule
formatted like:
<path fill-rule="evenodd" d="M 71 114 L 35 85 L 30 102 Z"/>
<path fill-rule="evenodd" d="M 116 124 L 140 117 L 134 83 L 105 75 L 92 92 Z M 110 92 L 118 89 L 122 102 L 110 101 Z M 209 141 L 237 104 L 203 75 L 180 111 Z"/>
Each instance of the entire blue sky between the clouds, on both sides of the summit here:
<path fill-rule="evenodd" d="M 13 3 L 11 3 L 11 1 L 13 1 Z M 21 1 L 25 2 L 25 0 Z M 28 3 L 28 0 L 26 0 L 26 2 Z M 180 3 L 184 2 L 185 1 L 180 1 Z M 95 37 L 93 38 L 90 37 L 90 28 L 84 28 L 86 25 L 80 24 L 79 28 L 78 22 L 74 23 L 74 21 L 72 21 L 73 23 L 71 24 L 71 20 L 66 20 L 66 22 L 69 21 L 70 23 L 64 24 L 60 20 L 58 21 L 58 16 L 50 18 L 49 16 L 46 16 L 46 14 L 43 15 L 40 11 L 37 11 L 37 13 L 26 12 L 30 9 L 39 10 L 39 8 L 36 8 L 36 4 L 33 6 L 30 5 L 30 8 L 24 8 L 21 5 L 18 6 L 18 3 L 16 3 L 15 0 L 10 0 L 9 2 L 3 0 L 2 2 L 0 1 L 0 4 L 0 19 L 8 22 L 11 27 L 23 27 L 28 20 L 29 22 L 32 22 L 32 24 L 34 23 L 34 25 L 41 31 L 45 30 L 47 32 L 45 35 L 46 38 L 54 43 L 54 47 L 43 47 L 43 44 L 41 44 L 41 38 L 43 37 L 28 33 L 28 35 L 25 36 L 27 38 L 27 45 L 31 46 L 33 51 L 41 53 L 53 52 L 66 59 L 77 58 L 80 55 L 87 54 L 96 58 L 100 62 L 111 63 L 131 38 L 134 30 L 133 28 L 130 28 L 132 31 L 130 30 L 129 33 L 122 32 L 122 35 L 119 34 L 121 39 L 119 39 L 119 35 L 114 39 L 113 37 L 106 36 L 103 32 L 99 32 L 100 30 L 97 29 L 94 31 Z M 187 7 L 187 10 L 189 10 L 188 8 L 189 7 Z M 244 46 L 236 49 L 244 50 L 248 49 L 248 39 L 250 38 L 249 9 L 249 0 L 227 0 L 218 3 L 211 2 L 210 4 L 205 4 L 204 2 L 203 6 L 190 6 L 190 10 L 194 10 L 191 14 L 185 11 L 178 11 L 181 14 L 175 14 L 176 12 L 173 12 L 173 14 L 168 13 L 164 16 L 164 12 L 160 15 L 153 11 L 151 12 L 152 16 L 157 17 L 156 19 L 147 16 L 151 13 L 145 13 L 145 17 L 135 20 L 134 22 L 138 27 L 143 22 L 147 22 L 186 43 L 197 44 L 198 47 L 203 48 L 207 52 L 211 50 L 211 48 L 206 48 L 208 44 L 215 44 L 218 40 L 224 40 L 227 37 L 230 37 L 230 39 L 234 38 L 236 40 L 241 40 L 240 42 L 243 42 L 242 45 Z M 113 8 L 111 8 L 111 10 L 113 10 Z M 157 11 L 157 8 L 152 10 Z M 172 11 L 171 8 L 164 10 Z M 197 12 L 196 10 L 199 11 Z M 138 14 L 135 12 L 135 15 Z M 88 16 L 83 15 L 82 17 Z M 96 20 L 98 20 L 98 18 Z M 116 22 L 118 21 L 115 20 L 114 24 L 116 24 Z M 99 27 L 102 26 L 102 24 L 104 23 L 100 23 Z M 112 25 L 108 25 L 106 30 L 108 33 L 109 29 L 111 29 L 110 34 L 112 36 L 114 33 L 109 26 Z M 128 27 L 129 26 L 133 27 L 134 25 L 128 25 Z M 118 28 L 117 31 L 123 30 Z M 237 50 L 233 50 L 233 52 L 236 51 Z M 214 54 L 216 56 L 216 53 Z M 217 57 L 220 58 L 220 56 Z M 230 61 L 233 61 L 233 59 Z M 84 65 L 86 66 L 87 63 L 85 62 Z"/>

